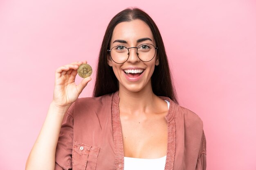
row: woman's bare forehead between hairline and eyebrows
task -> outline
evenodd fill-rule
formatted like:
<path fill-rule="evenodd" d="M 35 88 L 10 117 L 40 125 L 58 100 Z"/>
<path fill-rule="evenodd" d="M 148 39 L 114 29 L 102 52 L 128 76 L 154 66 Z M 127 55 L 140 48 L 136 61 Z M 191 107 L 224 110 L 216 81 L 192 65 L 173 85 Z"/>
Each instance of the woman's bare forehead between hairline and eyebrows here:
<path fill-rule="evenodd" d="M 116 39 L 126 40 L 128 43 L 137 41 L 141 38 L 150 38 L 155 42 L 152 31 L 142 20 L 132 20 L 130 22 L 121 22 L 115 26 L 111 43 Z"/>

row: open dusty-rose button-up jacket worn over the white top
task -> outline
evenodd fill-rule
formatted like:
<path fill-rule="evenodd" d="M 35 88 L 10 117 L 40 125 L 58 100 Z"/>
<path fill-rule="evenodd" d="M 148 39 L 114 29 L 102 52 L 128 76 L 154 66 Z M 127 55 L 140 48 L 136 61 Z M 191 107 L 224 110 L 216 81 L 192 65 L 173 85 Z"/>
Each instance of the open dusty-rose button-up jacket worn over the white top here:
<path fill-rule="evenodd" d="M 166 115 L 165 170 L 205 170 L 206 139 L 202 120 L 170 98 Z M 67 111 L 56 148 L 55 170 L 122 170 L 124 148 L 118 92 L 79 98 Z"/>

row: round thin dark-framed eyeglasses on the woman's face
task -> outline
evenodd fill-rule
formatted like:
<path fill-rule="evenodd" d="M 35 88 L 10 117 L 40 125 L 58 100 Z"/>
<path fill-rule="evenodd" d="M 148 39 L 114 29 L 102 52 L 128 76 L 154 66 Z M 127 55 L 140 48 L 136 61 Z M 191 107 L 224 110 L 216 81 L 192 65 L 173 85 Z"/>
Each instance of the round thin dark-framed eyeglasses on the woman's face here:
<path fill-rule="evenodd" d="M 130 54 L 129 49 L 131 48 L 137 49 L 136 54 L 143 62 L 151 61 L 155 57 L 155 52 L 158 49 L 152 44 L 141 44 L 138 47 L 130 48 L 127 48 L 124 45 L 118 45 L 108 50 L 108 52 L 110 52 L 110 57 L 115 63 L 122 64 L 128 60 Z"/>

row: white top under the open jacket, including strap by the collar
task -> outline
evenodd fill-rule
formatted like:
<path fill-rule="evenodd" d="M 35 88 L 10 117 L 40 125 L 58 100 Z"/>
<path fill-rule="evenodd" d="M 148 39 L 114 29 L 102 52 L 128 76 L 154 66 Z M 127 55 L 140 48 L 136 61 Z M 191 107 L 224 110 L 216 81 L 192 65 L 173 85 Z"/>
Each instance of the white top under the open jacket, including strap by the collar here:
<path fill-rule="evenodd" d="M 170 107 L 170 102 L 165 100 Z M 164 170 L 166 156 L 157 159 L 124 157 L 124 170 Z"/>

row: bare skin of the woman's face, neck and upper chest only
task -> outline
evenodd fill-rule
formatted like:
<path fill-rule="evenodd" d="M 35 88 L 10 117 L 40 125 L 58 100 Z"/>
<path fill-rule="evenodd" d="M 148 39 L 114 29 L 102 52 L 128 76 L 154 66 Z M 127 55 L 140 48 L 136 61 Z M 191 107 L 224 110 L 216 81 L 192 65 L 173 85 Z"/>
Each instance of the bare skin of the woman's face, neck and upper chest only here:
<path fill-rule="evenodd" d="M 137 43 L 138 39 L 150 38 Z M 114 42 L 124 40 L 127 43 Z M 141 20 L 121 22 L 113 31 L 110 48 L 117 45 L 137 47 L 149 43 L 155 46 L 155 40 L 149 26 Z M 124 144 L 124 156 L 154 159 L 163 157 L 167 152 L 167 103 L 153 94 L 151 76 L 157 57 L 149 62 L 141 61 L 136 49 L 130 49 L 128 60 L 117 64 L 108 57 L 108 65 L 119 81 L 119 111 Z M 124 69 L 130 67 L 143 68 L 144 74 L 139 81 L 129 81 L 124 75 Z"/>

